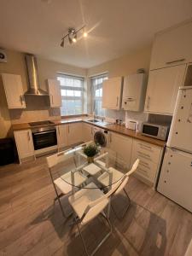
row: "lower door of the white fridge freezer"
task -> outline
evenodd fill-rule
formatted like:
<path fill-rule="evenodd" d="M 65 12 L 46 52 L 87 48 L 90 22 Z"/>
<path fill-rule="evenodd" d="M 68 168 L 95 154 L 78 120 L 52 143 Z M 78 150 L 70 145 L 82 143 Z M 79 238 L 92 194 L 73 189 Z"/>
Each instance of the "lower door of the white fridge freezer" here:
<path fill-rule="evenodd" d="M 157 190 L 192 212 L 192 154 L 166 148 Z"/>

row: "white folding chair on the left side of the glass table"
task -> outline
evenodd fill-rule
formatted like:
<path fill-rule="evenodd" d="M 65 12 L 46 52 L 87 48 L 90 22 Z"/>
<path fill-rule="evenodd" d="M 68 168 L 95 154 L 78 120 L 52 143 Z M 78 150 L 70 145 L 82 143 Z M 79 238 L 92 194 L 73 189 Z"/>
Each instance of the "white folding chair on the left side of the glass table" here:
<path fill-rule="evenodd" d="M 62 215 L 65 218 L 67 218 L 68 216 L 66 215 L 66 213 L 64 212 L 64 210 L 61 206 L 60 198 L 61 198 L 61 196 L 68 195 L 69 193 L 72 192 L 72 189 L 74 189 L 74 187 L 72 186 L 71 172 L 74 171 L 74 186 L 76 188 L 79 188 L 81 186 L 81 184 L 83 184 L 86 181 L 87 177 L 85 177 L 83 174 L 81 174 L 79 172 L 79 169 L 81 169 L 83 166 L 75 167 L 74 170 L 71 170 L 71 172 L 67 172 L 67 173 L 63 174 L 61 177 L 55 178 L 53 176 L 53 172 L 54 172 L 54 168 L 57 165 L 59 165 L 59 164 L 65 165 L 65 164 L 67 164 L 67 161 L 74 160 L 73 156 L 74 156 L 74 150 L 73 150 L 73 148 L 70 148 L 70 149 L 67 149 L 66 151 L 62 151 L 60 153 L 50 155 L 49 157 L 46 158 L 47 164 L 49 167 L 49 175 L 50 175 L 51 181 L 52 181 L 54 189 L 55 189 L 55 194 L 56 194 L 55 201 L 58 200 L 59 205 L 61 207 Z M 74 164 L 75 164 L 75 162 L 74 162 Z M 62 166 L 62 168 L 64 169 L 64 166 Z M 57 189 L 59 189 L 61 191 L 60 194 Z"/>

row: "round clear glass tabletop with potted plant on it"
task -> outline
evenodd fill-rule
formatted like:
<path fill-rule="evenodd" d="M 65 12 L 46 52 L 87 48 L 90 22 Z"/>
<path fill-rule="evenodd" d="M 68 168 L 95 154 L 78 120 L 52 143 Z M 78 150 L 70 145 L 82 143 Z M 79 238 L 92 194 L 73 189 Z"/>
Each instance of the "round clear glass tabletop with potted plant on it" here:
<path fill-rule="evenodd" d="M 129 171 L 125 159 L 111 148 L 99 148 L 93 158 L 84 154 L 84 145 L 58 155 L 62 160 L 55 166 L 55 177 L 72 185 L 73 189 L 110 189 Z"/>

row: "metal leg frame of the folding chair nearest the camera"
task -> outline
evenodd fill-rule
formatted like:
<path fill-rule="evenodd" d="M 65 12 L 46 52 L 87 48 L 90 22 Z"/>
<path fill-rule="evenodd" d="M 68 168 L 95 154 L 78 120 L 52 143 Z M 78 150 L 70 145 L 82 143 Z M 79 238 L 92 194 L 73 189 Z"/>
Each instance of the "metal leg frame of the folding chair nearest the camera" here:
<path fill-rule="evenodd" d="M 96 246 L 96 248 L 90 254 L 87 251 L 87 247 L 85 245 L 84 237 L 82 236 L 82 233 L 81 233 L 81 230 L 80 230 L 80 227 L 79 227 L 79 223 L 78 223 L 77 219 L 75 219 L 76 225 L 77 225 L 78 230 L 79 230 L 79 235 L 80 235 L 82 243 L 84 245 L 84 251 L 87 254 L 87 256 L 93 256 L 97 252 L 97 250 L 102 246 L 103 242 L 108 239 L 108 236 L 110 236 L 112 234 L 112 224 L 111 224 L 109 218 L 104 213 L 101 213 L 101 214 L 102 214 L 102 217 L 105 218 L 105 220 L 108 222 L 108 226 L 109 226 L 110 230 L 109 230 L 108 234 L 102 239 L 102 241 L 100 241 L 100 243 Z"/>

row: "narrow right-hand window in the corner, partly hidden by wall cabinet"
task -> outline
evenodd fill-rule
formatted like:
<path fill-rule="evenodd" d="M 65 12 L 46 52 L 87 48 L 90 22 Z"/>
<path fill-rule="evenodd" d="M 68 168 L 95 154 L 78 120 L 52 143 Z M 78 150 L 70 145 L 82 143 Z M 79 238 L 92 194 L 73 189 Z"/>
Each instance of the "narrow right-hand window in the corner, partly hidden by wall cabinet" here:
<path fill-rule="evenodd" d="M 108 74 L 91 78 L 92 110 L 98 116 L 105 116 L 105 110 L 102 108 L 102 82 L 106 79 Z"/>

